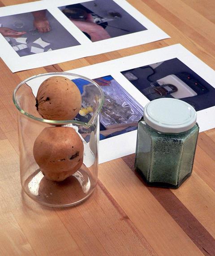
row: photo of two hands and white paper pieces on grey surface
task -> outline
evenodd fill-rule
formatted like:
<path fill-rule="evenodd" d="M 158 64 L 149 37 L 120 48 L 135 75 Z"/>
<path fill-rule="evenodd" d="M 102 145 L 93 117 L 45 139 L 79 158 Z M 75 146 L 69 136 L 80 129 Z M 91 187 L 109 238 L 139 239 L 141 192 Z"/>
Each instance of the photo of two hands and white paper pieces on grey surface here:
<path fill-rule="evenodd" d="M 80 45 L 47 10 L 0 17 L 0 33 L 21 57 Z"/>

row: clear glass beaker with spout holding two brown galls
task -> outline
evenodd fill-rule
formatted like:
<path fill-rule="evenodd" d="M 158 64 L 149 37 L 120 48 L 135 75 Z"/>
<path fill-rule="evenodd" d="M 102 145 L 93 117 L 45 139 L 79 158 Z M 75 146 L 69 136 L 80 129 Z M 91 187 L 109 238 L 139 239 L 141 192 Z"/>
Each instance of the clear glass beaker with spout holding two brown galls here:
<path fill-rule="evenodd" d="M 46 120 L 39 115 L 35 106 L 35 96 L 38 88 L 44 80 L 56 75 L 69 78 L 77 85 L 82 94 L 82 113 L 84 109 L 87 109 L 87 113 L 85 111 L 82 115 L 77 114 L 74 120 L 66 121 Z M 85 200 L 95 189 L 98 180 L 99 111 L 103 105 L 103 91 L 101 88 L 94 81 L 77 74 L 40 74 L 24 80 L 15 88 L 13 102 L 18 110 L 20 175 L 23 190 L 33 200 L 52 207 L 71 206 Z M 50 133 L 47 133 L 47 131 L 53 131 L 59 126 L 60 131 L 56 136 L 54 138 L 49 137 Z M 65 140 L 68 139 L 68 134 L 66 133 L 61 139 L 59 132 L 61 134 L 62 129 L 71 131 L 68 130 L 71 127 L 83 142 L 83 164 L 78 166 L 79 168 L 77 167 L 78 169 L 73 175 L 63 181 L 54 181 L 43 175 L 43 168 L 39 167 L 35 161 L 34 142 L 42 132 L 44 134 L 44 131 L 46 131 L 48 135 L 45 139 L 54 140 L 59 146 L 55 150 L 60 154 L 61 151 L 64 151 L 62 141 L 64 141 L 64 138 Z M 43 150 L 44 147 L 41 147 L 42 152 Z M 72 144 L 69 143 L 68 145 L 67 143 L 67 150 L 73 152 Z M 64 174 L 67 174 L 72 166 L 72 161 L 71 166 L 68 161 L 72 160 L 73 157 L 67 158 L 56 159 L 56 162 L 62 161 Z M 67 164 L 63 165 L 63 162 Z"/>

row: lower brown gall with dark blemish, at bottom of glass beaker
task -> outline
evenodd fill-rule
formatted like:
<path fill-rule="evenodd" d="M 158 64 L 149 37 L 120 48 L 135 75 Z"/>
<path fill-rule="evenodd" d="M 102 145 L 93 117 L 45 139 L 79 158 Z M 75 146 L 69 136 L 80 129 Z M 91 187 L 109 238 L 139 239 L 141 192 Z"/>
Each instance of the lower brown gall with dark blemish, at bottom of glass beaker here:
<path fill-rule="evenodd" d="M 84 145 L 71 127 L 53 126 L 42 130 L 34 142 L 33 154 L 43 175 L 63 181 L 83 163 Z"/>

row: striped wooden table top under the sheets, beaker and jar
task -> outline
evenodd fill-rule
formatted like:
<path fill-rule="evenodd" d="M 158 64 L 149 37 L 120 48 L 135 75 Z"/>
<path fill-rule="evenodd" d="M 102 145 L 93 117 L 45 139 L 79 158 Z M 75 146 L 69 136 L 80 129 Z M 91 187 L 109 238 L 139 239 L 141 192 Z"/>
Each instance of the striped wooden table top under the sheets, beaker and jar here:
<path fill-rule="evenodd" d="M 12 93 L 24 78 L 175 43 L 215 69 L 214 0 L 128 1 L 171 38 L 15 74 L 0 60 L 2 256 L 215 256 L 215 130 L 199 134 L 193 174 L 177 190 L 146 187 L 131 155 L 99 165 L 95 192 L 77 207 L 47 208 L 22 193 Z M 25 2 L 0 0 L 0 6 Z"/>

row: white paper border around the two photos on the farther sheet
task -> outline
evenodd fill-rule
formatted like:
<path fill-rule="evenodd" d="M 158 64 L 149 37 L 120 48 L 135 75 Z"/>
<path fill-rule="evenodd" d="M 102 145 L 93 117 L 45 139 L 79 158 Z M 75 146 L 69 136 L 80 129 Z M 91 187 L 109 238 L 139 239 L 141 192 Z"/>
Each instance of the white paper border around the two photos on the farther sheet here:
<path fill-rule="evenodd" d="M 0 34 L 0 56 L 6 65 L 8 65 L 9 69 L 11 69 L 12 72 L 17 72 L 26 69 L 39 68 L 42 66 L 71 61 L 86 56 L 93 56 L 169 38 L 163 30 L 146 18 L 127 1 L 113 0 L 138 22 L 145 26 L 147 30 L 97 42 L 91 42 L 90 39 L 88 39 L 81 30 L 77 29 L 77 27 L 75 27 L 74 24 L 70 22 L 69 19 L 58 9 L 58 7 L 67 4 L 77 4 L 89 1 L 91 0 L 41 0 L 26 4 L 1 7 L 0 17 L 47 9 L 47 11 L 49 11 L 56 20 L 60 22 L 60 24 L 64 26 L 79 43 L 81 43 L 81 45 L 73 47 L 20 57 L 4 39 L 4 36 Z"/>

